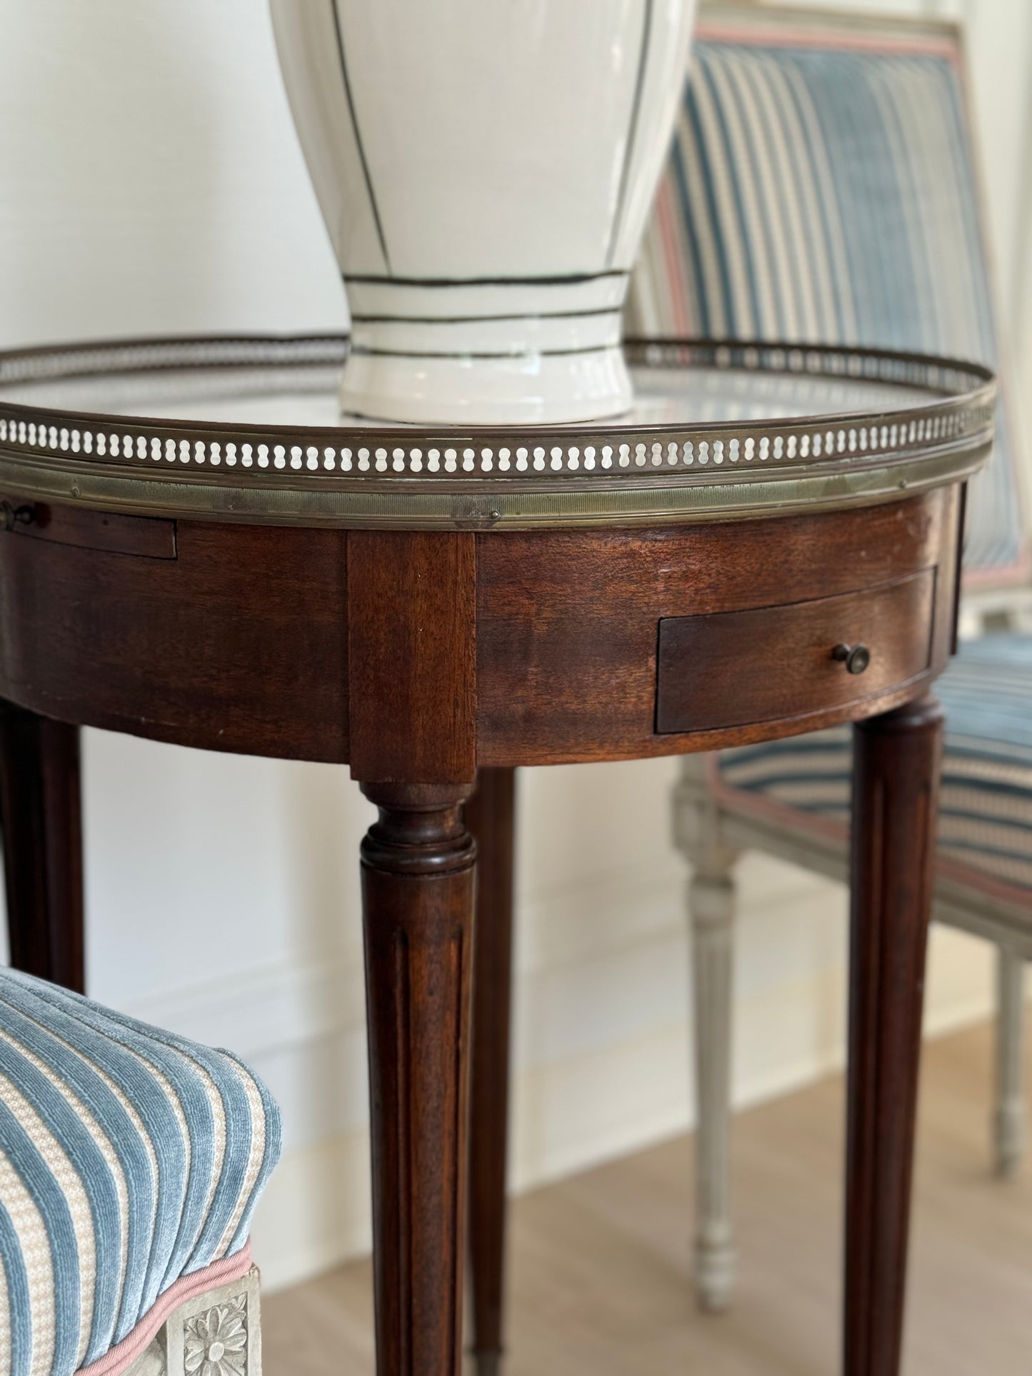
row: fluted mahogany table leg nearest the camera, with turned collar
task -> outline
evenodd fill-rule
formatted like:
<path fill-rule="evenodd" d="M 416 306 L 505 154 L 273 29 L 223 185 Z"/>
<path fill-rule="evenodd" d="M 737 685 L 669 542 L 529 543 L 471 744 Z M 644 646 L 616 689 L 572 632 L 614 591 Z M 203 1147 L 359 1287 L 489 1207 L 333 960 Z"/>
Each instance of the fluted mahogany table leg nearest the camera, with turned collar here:
<path fill-rule="evenodd" d="M 476 848 L 460 784 L 363 784 L 378 1376 L 458 1376 Z"/>

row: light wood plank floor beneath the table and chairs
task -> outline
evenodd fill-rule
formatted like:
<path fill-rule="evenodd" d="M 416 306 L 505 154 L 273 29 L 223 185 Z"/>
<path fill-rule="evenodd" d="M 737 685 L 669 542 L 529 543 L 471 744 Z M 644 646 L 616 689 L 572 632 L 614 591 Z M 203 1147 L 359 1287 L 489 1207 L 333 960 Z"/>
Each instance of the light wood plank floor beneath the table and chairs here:
<path fill-rule="evenodd" d="M 988 1170 L 991 1039 L 926 1047 L 907 1376 L 1032 1372 L 1032 1168 Z M 505 1376 L 830 1376 L 837 1369 L 839 1077 L 740 1115 L 739 1288 L 689 1285 L 691 1138 L 519 1200 Z M 264 1304 L 266 1376 L 372 1376 L 367 1263 Z"/>

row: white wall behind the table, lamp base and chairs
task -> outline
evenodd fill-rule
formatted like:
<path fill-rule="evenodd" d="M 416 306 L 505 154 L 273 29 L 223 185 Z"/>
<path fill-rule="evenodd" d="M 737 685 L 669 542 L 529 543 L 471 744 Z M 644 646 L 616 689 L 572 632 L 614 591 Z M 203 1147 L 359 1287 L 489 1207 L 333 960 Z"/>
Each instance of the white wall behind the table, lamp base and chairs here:
<path fill-rule="evenodd" d="M 1029 319 L 1029 180 L 992 73 L 1028 67 L 1032 7 L 978 0 L 974 14 L 985 122 L 1007 133 L 995 239 Z M 993 17 L 1017 25 L 1010 39 Z M 0 0 L 0 345 L 345 322 L 264 0 Z M 1032 383 L 1032 350 L 1022 359 Z M 361 1249 L 355 861 L 370 809 L 343 769 L 103 732 L 84 749 L 92 992 L 233 1046 L 279 1097 L 286 1154 L 256 1222 L 271 1284 Z M 517 1185 L 688 1123 L 671 779 L 670 761 L 522 775 Z M 841 1060 L 843 914 L 839 890 L 746 861 L 740 1102 Z M 985 1011 L 988 969 L 981 947 L 937 936 L 930 1021 Z"/>

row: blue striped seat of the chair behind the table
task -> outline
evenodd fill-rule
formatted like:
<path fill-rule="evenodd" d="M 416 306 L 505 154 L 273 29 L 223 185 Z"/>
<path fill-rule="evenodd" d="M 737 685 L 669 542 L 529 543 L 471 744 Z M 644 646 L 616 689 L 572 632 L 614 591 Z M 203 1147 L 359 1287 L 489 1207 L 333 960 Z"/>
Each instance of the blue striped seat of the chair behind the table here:
<path fill-rule="evenodd" d="M 940 795 L 940 872 L 976 889 L 1032 892 L 1032 636 L 960 647 L 936 688 L 947 709 Z M 845 835 L 849 728 L 722 754 L 717 791 L 736 812 L 791 816 Z"/>

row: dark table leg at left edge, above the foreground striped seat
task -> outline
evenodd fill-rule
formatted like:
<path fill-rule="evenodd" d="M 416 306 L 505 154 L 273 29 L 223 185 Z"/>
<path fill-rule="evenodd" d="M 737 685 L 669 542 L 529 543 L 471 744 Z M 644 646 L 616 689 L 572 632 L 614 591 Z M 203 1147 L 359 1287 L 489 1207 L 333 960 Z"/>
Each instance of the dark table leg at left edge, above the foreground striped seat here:
<path fill-rule="evenodd" d="M 11 965 L 85 991 L 78 728 L 0 703 Z"/>

